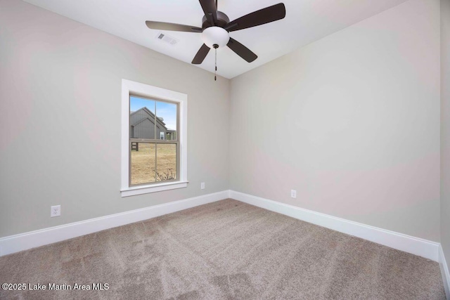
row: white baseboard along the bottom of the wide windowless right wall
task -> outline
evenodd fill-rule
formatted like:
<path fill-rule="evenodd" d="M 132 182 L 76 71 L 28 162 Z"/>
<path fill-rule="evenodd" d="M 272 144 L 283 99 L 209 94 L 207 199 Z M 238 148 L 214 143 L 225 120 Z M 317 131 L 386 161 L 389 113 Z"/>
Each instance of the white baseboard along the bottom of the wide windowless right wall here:
<path fill-rule="evenodd" d="M 330 228 L 341 233 L 346 233 L 347 235 L 354 235 L 355 237 L 361 237 L 364 240 L 370 240 L 371 242 L 383 244 L 387 247 L 423 256 L 432 261 L 439 261 L 438 252 L 440 244 L 437 242 L 340 219 L 328 214 L 321 214 L 316 211 L 294 207 L 293 205 L 267 200 L 261 197 L 236 192 L 234 190 L 230 191 L 230 198 L 270 211 L 276 211 L 279 214 L 284 214 L 295 219 Z"/>

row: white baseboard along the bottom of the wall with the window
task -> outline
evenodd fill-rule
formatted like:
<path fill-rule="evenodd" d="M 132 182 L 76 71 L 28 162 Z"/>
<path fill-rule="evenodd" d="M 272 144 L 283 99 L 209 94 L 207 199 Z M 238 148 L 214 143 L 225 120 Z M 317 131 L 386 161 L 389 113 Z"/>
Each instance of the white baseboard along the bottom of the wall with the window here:
<path fill-rule="evenodd" d="M 61 226 L 51 228 L 44 228 L 41 230 L 34 230 L 28 233 L 21 233 L 18 235 L 11 235 L 0 238 L 0 256 L 11 254 L 34 247 L 39 247 L 44 244 L 51 244 L 53 242 L 60 242 L 68 240 L 72 237 L 79 237 L 89 233 L 95 233 L 100 230 L 105 230 L 117 226 L 126 225 L 129 223 L 139 222 L 146 219 L 170 214 L 175 211 L 181 211 L 198 205 L 216 202 L 229 197 L 229 190 L 224 190 L 219 193 L 212 193 L 199 197 L 188 198 L 166 204 L 155 205 L 153 207 L 146 207 L 143 209 L 135 209 L 132 211 L 125 211 L 120 214 L 112 214 L 109 216 L 101 216 L 100 218 L 89 219 L 75 223 L 69 223 Z"/>

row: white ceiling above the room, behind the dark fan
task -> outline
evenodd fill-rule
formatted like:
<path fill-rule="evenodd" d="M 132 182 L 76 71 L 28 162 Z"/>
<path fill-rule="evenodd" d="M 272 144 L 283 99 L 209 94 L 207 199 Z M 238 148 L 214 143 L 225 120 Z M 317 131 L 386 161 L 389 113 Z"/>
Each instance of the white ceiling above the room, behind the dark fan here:
<path fill-rule="evenodd" d="M 153 20 L 202 27 L 198 0 L 25 1 L 186 63 L 191 63 L 203 44 L 199 33 L 164 32 L 179 40 L 172 46 L 156 39 L 160 31 L 148 29 L 145 23 Z M 286 7 L 283 20 L 230 33 L 256 53 L 257 60 L 247 63 L 231 49 L 219 48 L 217 74 L 231 79 L 406 0 L 219 0 L 218 7 L 234 20 L 280 1 Z M 213 53 L 198 67 L 214 72 Z"/>

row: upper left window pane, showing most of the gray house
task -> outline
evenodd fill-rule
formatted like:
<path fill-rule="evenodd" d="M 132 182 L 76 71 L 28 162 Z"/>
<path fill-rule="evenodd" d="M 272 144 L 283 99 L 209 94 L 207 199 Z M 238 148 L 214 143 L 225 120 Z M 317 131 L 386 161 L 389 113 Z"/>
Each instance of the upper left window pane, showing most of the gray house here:
<path fill-rule="evenodd" d="M 155 100 L 129 97 L 129 137 L 155 138 Z"/>

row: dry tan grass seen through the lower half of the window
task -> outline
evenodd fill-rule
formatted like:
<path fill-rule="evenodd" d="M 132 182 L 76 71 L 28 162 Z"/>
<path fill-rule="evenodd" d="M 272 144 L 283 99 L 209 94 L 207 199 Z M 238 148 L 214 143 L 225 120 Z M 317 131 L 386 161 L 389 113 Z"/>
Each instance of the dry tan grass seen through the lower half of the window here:
<path fill-rule="evenodd" d="M 155 170 L 155 144 L 139 143 L 131 150 L 131 184 L 151 183 L 176 178 L 176 145 L 158 144 Z"/>

